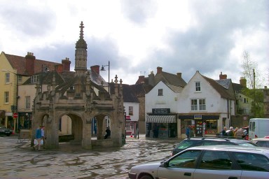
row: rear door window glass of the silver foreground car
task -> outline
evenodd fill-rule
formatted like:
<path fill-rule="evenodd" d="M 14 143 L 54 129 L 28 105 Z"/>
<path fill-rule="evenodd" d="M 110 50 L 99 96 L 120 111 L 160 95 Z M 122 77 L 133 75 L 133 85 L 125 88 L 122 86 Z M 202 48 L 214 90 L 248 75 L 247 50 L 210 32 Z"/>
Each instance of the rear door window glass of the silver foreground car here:
<path fill-rule="evenodd" d="M 225 151 L 206 150 L 202 156 L 199 169 L 228 170 L 232 167 L 232 161 Z"/>

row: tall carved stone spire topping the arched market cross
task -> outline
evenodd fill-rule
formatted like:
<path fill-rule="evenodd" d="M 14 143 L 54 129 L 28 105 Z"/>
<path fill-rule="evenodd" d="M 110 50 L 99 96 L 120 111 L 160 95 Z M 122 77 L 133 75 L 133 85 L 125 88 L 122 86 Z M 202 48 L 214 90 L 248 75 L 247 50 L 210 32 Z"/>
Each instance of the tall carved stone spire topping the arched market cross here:
<path fill-rule="evenodd" d="M 76 42 L 75 52 L 75 71 L 78 76 L 85 76 L 87 71 L 87 43 L 83 38 L 83 22 L 81 21 L 81 33 L 78 41 Z"/>

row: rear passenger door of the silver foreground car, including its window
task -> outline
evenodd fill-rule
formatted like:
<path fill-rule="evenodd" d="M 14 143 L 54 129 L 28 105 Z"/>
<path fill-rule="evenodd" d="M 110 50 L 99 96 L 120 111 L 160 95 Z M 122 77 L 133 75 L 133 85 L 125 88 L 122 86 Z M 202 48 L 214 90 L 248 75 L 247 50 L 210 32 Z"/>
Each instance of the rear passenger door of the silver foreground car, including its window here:
<path fill-rule="evenodd" d="M 241 170 L 233 170 L 233 160 L 226 151 L 204 150 L 193 179 L 240 178 Z"/>

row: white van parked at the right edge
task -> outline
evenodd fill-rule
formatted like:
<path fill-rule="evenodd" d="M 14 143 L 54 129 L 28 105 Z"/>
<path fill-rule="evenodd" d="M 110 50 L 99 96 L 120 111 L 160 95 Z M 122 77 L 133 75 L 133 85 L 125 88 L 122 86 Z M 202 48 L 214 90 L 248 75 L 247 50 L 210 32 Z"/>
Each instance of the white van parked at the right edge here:
<path fill-rule="evenodd" d="M 249 141 L 254 138 L 269 136 L 269 118 L 252 118 L 249 120 Z"/>

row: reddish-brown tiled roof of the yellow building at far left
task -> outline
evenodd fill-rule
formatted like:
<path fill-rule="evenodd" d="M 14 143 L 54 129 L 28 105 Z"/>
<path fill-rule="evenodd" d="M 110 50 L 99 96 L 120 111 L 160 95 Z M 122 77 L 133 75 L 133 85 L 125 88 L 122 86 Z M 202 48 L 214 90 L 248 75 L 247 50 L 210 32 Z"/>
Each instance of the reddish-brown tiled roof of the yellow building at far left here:
<path fill-rule="evenodd" d="M 29 76 L 29 74 L 26 71 L 26 59 L 25 57 L 20 57 L 18 55 L 9 55 L 6 54 L 6 59 L 8 59 L 8 62 L 11 64 L 13 69 L 17 69 L 18 74 L 21 76 Z M 55 65 L 59 65 L 60 63 L 56 62 L 49 62 L 46 60 L 41 59 L 35 59 L 34 60 L 34 73 L 40 73 L 42 71 L 42 65 L 43 67 L 48 66 L 48 69 L 50 71 L 54 71 Z"/>

